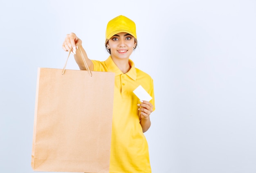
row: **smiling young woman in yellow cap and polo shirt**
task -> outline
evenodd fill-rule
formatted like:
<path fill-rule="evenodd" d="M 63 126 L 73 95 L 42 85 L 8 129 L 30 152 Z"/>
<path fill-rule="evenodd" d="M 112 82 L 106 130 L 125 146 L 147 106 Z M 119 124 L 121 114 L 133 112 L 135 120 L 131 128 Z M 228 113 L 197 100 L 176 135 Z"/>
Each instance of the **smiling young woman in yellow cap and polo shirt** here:
<path fill-rule="evenodd" d="M 155 110 L 153 79 L 135 68 L 129 59 L 137 46 L 135 23 L 123 15 L 110 20 L 105 46 L 110 56 L 106 61 L 96 61 L 88 58 L 81 39 L 74 33 L 68 34 L 63 42 L 65 51 L 73 48 L 72 53 L 81 70 L 86 68 L 77 48 L 81 49 L 90 70 L 115 73 L 110 173 L 151 173 L 148 144 L 143 133 L 149 129 L 149 116 Z M 133 90 L 139 85 L 152 100 L 137 98 Z"/>

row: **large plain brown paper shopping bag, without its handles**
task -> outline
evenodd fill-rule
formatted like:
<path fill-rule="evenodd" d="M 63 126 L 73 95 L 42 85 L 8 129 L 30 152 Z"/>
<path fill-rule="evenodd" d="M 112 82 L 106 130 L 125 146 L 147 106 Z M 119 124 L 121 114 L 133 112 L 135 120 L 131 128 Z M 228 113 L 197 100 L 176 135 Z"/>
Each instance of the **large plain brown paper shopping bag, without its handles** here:
<path fill-rule="evenodd" d="M 115 74 L 38 68 L 34 171 L 108 173 Z"/>

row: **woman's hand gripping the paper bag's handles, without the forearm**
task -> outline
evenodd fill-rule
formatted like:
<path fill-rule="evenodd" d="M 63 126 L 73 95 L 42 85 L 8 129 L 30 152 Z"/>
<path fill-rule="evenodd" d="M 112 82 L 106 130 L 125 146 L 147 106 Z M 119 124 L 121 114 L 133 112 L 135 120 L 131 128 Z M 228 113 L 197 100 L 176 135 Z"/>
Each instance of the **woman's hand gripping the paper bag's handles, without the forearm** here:
<path fill-rule="evenodd" d="M 82 40 L 79 39 L 75 33 L 67 34 L 63 44 L 62 48 L 65 51 L 70 51 L 70 48 L 73 48 L 72 53 L 76 54 L 76 49 L 78 48 L 76 45 L 81 46 Z"/>

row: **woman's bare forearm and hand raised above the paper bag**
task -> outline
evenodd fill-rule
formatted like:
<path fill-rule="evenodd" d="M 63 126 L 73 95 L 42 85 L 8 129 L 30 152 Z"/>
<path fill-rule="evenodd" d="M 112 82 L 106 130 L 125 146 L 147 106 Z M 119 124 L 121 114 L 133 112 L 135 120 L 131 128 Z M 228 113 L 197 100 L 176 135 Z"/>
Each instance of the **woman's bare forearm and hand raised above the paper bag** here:
<path fill-rule="evenodd" d="M 79 39 L 76 36 L 76 34 L 74 34 L 74 33 L 67 34 L 67 36 L 62 44 L 62 48 L 65 51 L 70 51 L 70 48 L 73 48 L 72 54 L 74 55 L 74 58 L 76 60 L 76 63 L 78 64 L 80 70 L 86 70 L 80 50 L 78 49 L 78 48 L 80 48 L 89 69 L 93 70 L 92 61 L 88 58 L 85 50 L 83 49 L 82 40 Z"/>

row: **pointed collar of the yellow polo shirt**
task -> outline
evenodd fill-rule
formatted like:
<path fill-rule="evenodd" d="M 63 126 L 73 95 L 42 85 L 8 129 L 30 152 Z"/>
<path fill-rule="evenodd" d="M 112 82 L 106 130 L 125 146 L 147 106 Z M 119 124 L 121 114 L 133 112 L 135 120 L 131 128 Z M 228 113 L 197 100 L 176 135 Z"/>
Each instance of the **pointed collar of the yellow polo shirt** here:
<path fill-rule="evenodd" d="M 109 56 L 108 59 L 106 59 L 105 63 L 106 63 L 106 66 L 108 67 L 108 69 L 111 69 L 111 71 L 115 73 L 115 76 L 123 74 L 123 72 L 114 63 L 111 56 Z M 129 59 L 129 64 L 130 64 L 131 68 L 126 73 L 126 75 L 129 76 L 131 79 L 136 80 L 137 73 L 136 73 L 136 69 L 135 69 L 135 64 L 130 59 Z"/>

